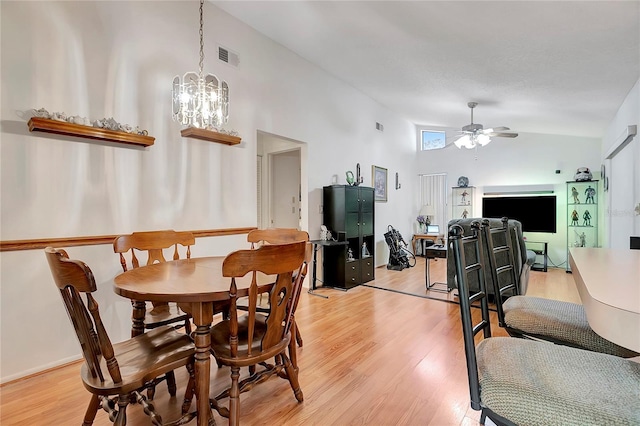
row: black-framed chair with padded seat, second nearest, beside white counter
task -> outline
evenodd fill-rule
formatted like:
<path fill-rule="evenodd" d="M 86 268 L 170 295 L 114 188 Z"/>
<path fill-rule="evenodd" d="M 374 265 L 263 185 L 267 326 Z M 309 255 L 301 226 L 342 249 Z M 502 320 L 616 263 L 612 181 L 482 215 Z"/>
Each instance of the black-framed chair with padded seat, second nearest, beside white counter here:
<path fill-rule="evenodd" d="M 506 217 L 502 218 L 501 227 L 491 228 L 488 220 L 482 221 L 500 326 L 514 337 L 544 340 L 623 358 L 640 356 L 593 331 L 582 305 L 518 294 L 507 222 Z"/>

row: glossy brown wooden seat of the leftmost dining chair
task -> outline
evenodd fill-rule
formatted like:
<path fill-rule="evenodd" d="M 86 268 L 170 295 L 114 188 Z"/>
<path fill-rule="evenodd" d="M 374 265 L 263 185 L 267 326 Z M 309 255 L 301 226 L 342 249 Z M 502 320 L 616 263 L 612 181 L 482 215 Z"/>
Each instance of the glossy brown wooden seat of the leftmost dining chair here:
<path fill-rule="evenodd" d="M 122 382 L 114 383 L 108 375 L 104 381 L 91 377 L 85 363 L 81 376 L 90 392 L 99 395 L 132 392 L 159 375 L 184 365 L 184 359 L 195 354 L 195 346 L 189 336 L 175 331 L 171 326 L 158 327 L 117 343 L 113 345 L 113 350 L 120 365 Z M 102 371 L 108 371 L 104 358 L 100 363 Z M 117 391 L 114 392 L 114 389 Z"/>

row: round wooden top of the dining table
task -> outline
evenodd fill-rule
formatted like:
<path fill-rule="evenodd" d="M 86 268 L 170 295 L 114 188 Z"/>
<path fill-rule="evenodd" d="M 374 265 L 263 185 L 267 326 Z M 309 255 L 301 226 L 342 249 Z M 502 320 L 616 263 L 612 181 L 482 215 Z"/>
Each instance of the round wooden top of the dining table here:
<path fill-rule="evenodd" d="M 132 300 L 151 302 L 228 300 L 231 278 L 222 276 L 223 260 L 224 256 L 199 257 L 130 269 L 113 279 L 114 291 Z M 245 295 L 250 285 L 251 274 L 236 279 L 238 296 Z"/>

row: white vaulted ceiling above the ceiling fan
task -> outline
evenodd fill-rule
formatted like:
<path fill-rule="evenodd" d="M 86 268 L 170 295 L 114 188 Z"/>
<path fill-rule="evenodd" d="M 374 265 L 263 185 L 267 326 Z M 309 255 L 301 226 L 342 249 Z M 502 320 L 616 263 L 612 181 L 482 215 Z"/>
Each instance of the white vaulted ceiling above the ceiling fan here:
<path fill-rule="evenodd" d="M 638 1 L 212 1 L 417 125 L 600 137 L 640 77 Z"/>

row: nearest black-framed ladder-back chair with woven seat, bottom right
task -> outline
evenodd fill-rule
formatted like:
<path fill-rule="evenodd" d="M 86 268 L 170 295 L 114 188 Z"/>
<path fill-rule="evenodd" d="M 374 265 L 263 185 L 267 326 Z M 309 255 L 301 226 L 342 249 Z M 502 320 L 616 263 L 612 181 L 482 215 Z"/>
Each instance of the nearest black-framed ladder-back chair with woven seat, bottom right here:
<path fill-rule="evenodd" d="M 449 230 L 458 279 L 471 408 L 497 425 L 640 424 L 640 364 L 528 339 L 491 337 L 480 223 Z M 474 246 L 466 256 L 465 245 Z M 468 252 L 468 251 L 467 251 Z M 480 283 L 469 292 L 469 275 Z M 480 319 L 471 309 L 480 304 Z M 477 317 L 476 317 L 477 318 Z M 483 332 L 476 346 L 476 336 Z"/>

